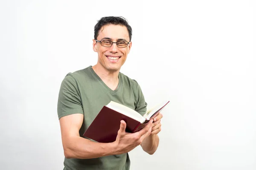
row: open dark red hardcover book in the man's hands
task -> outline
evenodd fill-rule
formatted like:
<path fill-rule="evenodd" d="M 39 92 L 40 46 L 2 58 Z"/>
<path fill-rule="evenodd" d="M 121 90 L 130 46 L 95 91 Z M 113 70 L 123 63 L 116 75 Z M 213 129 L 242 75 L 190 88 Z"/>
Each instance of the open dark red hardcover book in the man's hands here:
<path fill-rule="evenodd" d="M 166 101 L 155 105 L 142 116 L 125 105 L 111 101 L 108 105 L 103 106 L 83 136 L 96 142 L 114 142 L 121 120 L 124 120 L 126 123 L 126 132 L 135 133 L 143 129 L 150 119 L 154 119 L 168 103 L 169 101 Z"/>

